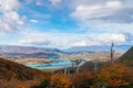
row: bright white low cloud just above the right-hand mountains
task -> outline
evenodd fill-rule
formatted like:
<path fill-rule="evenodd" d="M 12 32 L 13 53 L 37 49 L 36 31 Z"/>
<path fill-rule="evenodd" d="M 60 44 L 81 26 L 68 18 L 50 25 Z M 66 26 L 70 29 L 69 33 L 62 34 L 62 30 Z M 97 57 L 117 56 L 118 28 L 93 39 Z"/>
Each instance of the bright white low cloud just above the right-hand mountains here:
<path fill-rule="evenodd" d="M 126 43 L 126 36 L 124 34 L 115 33 L 91 33 L 73 43 L 73 46 L 108 45 L 112 42 L 115 44 L 124 44 Z"/>

